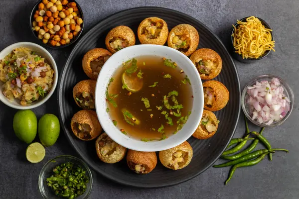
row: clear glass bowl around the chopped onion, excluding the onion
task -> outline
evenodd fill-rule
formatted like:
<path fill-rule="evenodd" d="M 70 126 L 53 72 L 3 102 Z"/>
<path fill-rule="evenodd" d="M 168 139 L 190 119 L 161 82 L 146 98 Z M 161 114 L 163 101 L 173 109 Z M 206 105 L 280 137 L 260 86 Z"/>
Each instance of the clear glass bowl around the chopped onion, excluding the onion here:
<path fill-rule="evenodd" d="M 274 121 L 272 124 L 270 125 L 266 125 L 264 123 L 260 124 L 258 121 L 253 120 L 249 114 L 249 107 L 246 103 L 247 98 L 249 97 L 249 95 L 247 94 L 247 88 L 251 87 L 253 85 L 256 84 L 256 82 L 261 82 L 262 80 L 267 80 L 267 81 L 271 81 L 272 78 L 277 78 L 279 79 L 280 83 L 281 83 L 281 87 L 284 88 L 284 94 L 286 95 L 286 97 L 288 97 L 291 102 L 290 102 L 290 111 L 287 113 L 287 115 L 285 117 L 283 117 L 281 120 L 278 121 Z M 244 114 L 246 115 L 246 117 L 254 124 L 261 126 L 261 127 L 273 127 L 273 126 L 278 126 L 281 125 L 282 123 L 284 123 L 286 121 L 286 119 L 290 116 L 292 110 L 293 110 L 293 106 L 294 106 L 294 93 L 291 89 L 291 87 L 280 77 L 277 77 L 275 75 L 261 75 L 258 77 L 253 78 L 244 88 L 243 92 L 242 92 L 242 96 L 241 96 L 241 106 L 243 109 Z"/>

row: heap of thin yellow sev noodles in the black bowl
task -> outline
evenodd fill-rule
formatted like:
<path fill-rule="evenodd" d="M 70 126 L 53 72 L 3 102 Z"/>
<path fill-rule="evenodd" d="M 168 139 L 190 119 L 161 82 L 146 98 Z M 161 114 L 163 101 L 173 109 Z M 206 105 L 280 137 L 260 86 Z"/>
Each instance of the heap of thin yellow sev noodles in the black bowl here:
<path fill-rule="evenodd" d="M 275 41 L 272 41 L 271 29 L 265 28 L 255 16 L 246 18 L 246 22 L 237 20 L 234 26 L 233 45 L 235 52 L 244 58 L 259 58 L 267 50 L 274 50 Z"/>

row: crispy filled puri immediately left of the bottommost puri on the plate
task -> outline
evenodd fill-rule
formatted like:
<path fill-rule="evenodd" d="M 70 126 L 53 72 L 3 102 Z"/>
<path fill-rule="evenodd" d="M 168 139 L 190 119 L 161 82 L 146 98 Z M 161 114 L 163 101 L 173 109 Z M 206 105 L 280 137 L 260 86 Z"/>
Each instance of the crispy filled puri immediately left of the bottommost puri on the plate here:
<path fill-rule="evenodd" d="M 105 163 L 113 164 L 121 161 L 127 149 L 113 141 L 106 133 L 102 133 L 96 141 L 98 157 Z"/>

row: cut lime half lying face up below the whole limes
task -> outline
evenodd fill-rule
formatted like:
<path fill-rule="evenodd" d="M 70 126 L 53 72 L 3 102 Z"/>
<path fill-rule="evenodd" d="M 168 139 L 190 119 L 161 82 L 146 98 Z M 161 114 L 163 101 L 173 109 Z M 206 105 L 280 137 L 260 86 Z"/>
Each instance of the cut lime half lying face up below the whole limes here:
<path fill-rule="evenodd" d="M 26 149 L 26 158 L 31 163 L 38 163 L 45 157 L 45 147 L 38 142 L 30 144 Z"/>

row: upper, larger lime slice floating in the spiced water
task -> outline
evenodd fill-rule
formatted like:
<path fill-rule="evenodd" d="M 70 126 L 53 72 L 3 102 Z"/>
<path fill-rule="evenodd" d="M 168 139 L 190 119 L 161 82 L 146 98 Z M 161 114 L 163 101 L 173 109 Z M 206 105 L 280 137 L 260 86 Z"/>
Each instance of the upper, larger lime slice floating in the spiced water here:
<path fill-rule="evenodd" d="M 129 76 L 126 73 L 123 73 L 122 82 L 123 85 L 125 85 L 125 88 L 132 93 L 140 91 L 143 87 L 142 79 L 138 78 L 136 75 Z"/>

